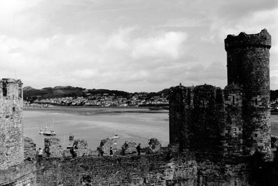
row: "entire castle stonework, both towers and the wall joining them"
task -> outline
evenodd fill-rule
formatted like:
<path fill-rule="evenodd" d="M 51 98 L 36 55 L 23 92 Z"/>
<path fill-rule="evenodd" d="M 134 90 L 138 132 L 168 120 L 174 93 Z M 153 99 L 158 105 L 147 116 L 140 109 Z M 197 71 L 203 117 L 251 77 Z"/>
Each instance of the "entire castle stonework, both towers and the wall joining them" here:
<path fill-rule="evenodd" d="M 170 146 L 151 155 L 97 157 L 76 140 L 73 156 L 51 138 L 33 161 L 31 139 L 23 150 L 22 84 L 0 80 L 0 185 L 278 185 L 278 158 L 266 161 L 270 35 L 227 36 L 225 49 L 228 85 L 172 87 Z"/>

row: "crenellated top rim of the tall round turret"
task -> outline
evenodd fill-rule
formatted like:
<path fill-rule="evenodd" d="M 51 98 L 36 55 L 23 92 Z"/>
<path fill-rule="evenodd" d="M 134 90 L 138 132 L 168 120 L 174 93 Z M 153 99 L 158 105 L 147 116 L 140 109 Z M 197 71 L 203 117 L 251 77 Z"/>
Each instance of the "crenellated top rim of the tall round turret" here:
<path fill-rule="evenodd" d="M 270 49 L 271 36 L 266 29 L 256 34 L 241 32 L 238 36 L 228 35 L 224 43 L 226 51 L 241 47 L 266 47 Z"/>

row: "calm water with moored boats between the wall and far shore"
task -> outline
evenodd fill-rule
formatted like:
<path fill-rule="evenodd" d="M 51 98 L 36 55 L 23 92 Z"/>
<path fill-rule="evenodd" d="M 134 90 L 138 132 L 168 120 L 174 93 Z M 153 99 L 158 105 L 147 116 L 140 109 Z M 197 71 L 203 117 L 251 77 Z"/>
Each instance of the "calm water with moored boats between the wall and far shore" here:
<path fill-rule="evenodd" d="M 74 139 L 85 139 L 90 149 L 95 150 L 101 139 L 118 134 L 118 148 L 124 141 L 133 140 L 147 146 L 148 139 L 156 137 L 163 146 L 169 143 L 168 112 L 149 111 L 149 109 L 92 108 L 92 107 L 55 107 L 24 110 L 24 136 L 31 137 L 37 148 L 44 146 L 45 136 L 39 134 L 54 118 L 56 137 L 63 146 Z"/>

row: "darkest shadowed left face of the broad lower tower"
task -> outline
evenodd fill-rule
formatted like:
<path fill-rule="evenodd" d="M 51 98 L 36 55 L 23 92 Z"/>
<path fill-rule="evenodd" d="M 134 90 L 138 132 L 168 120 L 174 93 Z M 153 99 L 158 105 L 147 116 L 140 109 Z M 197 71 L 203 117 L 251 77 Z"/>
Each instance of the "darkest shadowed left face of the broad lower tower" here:
<path fill-rule="evenodd" d="M 220 88 L 206 84 L 172 87 L 169 102 L 170 137 L 175 138 L 172 141 L 179 144 L 180 150 L 190 149 L 205 158 L 208 154 L 212 158 L 224 154 L 226 112 Z"/>

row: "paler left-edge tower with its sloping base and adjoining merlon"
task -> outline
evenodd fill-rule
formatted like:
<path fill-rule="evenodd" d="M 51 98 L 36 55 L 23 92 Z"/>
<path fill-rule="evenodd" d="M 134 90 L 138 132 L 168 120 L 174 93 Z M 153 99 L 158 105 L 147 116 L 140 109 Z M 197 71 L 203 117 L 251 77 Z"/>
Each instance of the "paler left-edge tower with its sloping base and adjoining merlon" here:
<path fill-rule="evenodd" d="M 0 185 L 35 185 L 35 144 L 23 139 L 22 82 L 0 80 Z M 24 148 L 24 146 L 26 148 Z"/>

